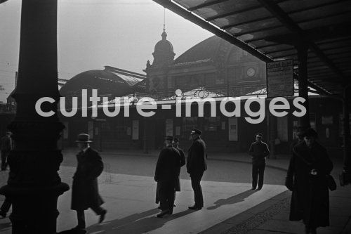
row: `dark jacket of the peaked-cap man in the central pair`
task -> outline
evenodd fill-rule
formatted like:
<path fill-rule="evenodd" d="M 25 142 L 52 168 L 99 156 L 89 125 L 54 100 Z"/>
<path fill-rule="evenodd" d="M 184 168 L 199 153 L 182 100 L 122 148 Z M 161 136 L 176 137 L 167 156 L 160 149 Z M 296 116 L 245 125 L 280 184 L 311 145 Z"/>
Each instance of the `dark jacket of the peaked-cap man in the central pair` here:
<path fill-rule="evenodd" d="M 204 141 L 201 138 L 195 139 L 187 152 L 187 173 L 204 173 L 207 169 L 206 158 L 207 151 Z"/>

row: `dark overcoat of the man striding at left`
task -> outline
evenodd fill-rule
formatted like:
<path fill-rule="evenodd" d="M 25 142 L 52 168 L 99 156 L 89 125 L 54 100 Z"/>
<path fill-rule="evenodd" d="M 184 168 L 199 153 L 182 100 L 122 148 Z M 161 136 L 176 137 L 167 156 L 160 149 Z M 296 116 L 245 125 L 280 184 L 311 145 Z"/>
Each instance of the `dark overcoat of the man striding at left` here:
<path fill-rule="evenodd" d="M 99 207 L 103 203 L 98 191 L 98 176 L 104 168 L 101 157 L 96 150 L 88 148 L 86 152 L 79 152 L 77 161 L 77 171 L 73 176 L 71 209 Z"/>

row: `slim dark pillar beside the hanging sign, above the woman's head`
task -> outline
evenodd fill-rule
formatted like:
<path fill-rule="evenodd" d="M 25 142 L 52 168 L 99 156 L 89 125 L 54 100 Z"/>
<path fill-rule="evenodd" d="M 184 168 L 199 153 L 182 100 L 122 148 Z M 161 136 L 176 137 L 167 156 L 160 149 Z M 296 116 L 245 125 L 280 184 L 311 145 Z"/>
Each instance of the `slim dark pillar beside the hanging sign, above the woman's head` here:
<path fill-rule="evenodd" d="M 310 128 L 310 108 L 308 101 L 308 83 L 307 83 L 307 50 L 306 44 L 301 42 L 296 46 L 298 51 L 298 96 L 305 98 L 303 105 L 306 108 L 306 115 L 300 117 L 299 125 L 302 129 Z"/>

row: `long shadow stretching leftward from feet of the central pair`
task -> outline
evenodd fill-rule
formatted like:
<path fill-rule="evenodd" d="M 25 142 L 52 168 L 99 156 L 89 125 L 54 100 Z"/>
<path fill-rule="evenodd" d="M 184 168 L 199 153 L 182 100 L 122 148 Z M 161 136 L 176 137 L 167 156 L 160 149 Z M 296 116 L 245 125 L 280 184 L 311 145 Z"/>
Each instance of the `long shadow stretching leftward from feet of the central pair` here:
<path fill-rule="evenodd" d="M 194 211 L 186 210 L 172 214 L 171 216 L 164 216 L 164 218 L 156 218 L 154 216 L 159 212 L 159 209 L 150 209 L 147 212 L 140 214 L 132 214 L 123 219 L 115 219 L 106 221 L 100 225 L 95 224 L 88 227 L 88 233 L 128 233 L 128 234 L 141 234 L 147 233 L 157 228 L 161 228 L 165 223 L 173 219 L 178 219 Z M 153 216 L 151 216 L 153 215 Z"/>

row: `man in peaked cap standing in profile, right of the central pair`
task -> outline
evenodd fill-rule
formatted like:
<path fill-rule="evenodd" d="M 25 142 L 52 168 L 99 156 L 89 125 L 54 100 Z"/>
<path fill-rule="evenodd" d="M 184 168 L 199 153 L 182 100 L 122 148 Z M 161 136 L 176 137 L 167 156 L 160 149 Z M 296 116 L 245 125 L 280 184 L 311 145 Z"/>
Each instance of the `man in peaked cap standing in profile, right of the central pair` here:
<path fill-rule="evenodd" d="M 190 174 L 195 200 L 195 204 L 188 208 L 196 210 L 204 207 L 204 197 L 202 196 L 200 182 L 204 175 L 204 171 L 207 169 L 206 144 L 200 137 L 201 133 L 202 132 L 199 129 L 192 129 L 192 132 L 190 133 L 192 136 L 192 145 L 190 146 L 187 155 L 187 173 Z"/>

